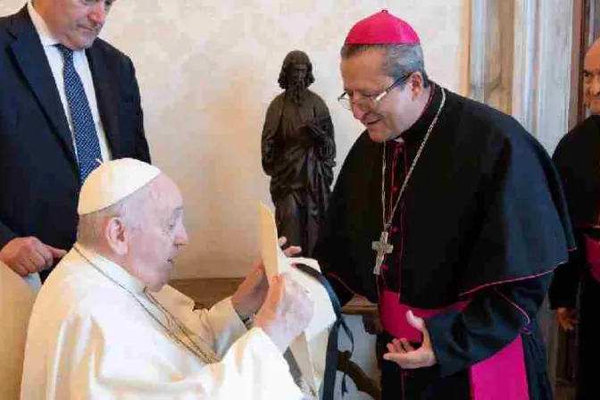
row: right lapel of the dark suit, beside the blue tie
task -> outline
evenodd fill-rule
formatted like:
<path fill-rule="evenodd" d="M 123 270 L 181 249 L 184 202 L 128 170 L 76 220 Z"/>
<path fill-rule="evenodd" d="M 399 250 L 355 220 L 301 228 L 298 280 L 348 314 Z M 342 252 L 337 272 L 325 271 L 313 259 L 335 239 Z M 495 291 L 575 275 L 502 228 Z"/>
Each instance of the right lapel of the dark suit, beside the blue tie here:
<path fill-rule="evenodd" d="M 98 103 L 98 111 L 100 112 L 100 119 L 104 127 L 104 133 L 108 144 L 111 147 L 112 157 L 118 158 L 120 156 L 121 148 L 119 146 L 119 128 L 118 128 L 118 115 L 119 104 L 118 94 L 115 93 L 115 88 L 118 85 L 114 84 L 114 77 L 111 77 L 108 73 L 104 57 L 101 51 L 98 49 L 97 40 L 93 46 L 86 50 L 87 61 L 89 62 L 89 69 L 92 71 L 92 79 L 94 80 L 94 89 L 96 91 L 96 101 Z"/>

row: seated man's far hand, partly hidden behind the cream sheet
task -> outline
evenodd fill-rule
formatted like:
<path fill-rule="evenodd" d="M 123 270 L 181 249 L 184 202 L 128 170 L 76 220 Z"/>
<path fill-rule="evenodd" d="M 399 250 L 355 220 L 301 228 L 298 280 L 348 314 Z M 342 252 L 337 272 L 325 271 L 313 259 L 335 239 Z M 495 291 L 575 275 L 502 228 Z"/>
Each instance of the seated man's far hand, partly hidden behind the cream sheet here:
<path fill-rule="evenodd" d="M 279 246 L 284 246 L 287 243 L 286 237 L 279 237 Z M 298 246 L 289 246 L 283 251 L 288 257 L 300 253 L 302 249 Z M 267 296 L 269 283 L 264 272 L 262 260 L 254 265 L 254 268 L 246 279 L 237 287 L 236 293 L 231 297 L 231 304 L 236 310 L 237 315 L 242 320 L 250 317 L 262 307 L 264 299 Z"/>

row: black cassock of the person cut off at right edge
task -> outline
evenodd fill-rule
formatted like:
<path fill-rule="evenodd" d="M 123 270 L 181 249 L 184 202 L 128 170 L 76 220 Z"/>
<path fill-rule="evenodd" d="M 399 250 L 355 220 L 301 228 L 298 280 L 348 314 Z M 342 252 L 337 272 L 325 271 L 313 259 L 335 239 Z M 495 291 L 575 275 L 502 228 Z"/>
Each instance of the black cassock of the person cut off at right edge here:
<path fill-rule="evenodd" d="M 600 117 L 592 115 L 562 138 L 553 156 L 569 204 L 576 252 L 556 270 L 550 287 L 553 308 L 575 308 L 580 287 L 578 399 L 600 397 Z"/>

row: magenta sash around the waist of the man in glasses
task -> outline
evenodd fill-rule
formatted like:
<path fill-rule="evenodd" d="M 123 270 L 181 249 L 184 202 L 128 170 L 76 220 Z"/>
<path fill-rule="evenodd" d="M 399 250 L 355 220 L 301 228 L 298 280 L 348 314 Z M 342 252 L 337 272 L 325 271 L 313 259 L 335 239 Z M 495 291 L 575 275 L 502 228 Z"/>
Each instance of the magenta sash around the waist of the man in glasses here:
<path fill-rule="evenodd" d="M 379 297 L 381 325 L 392 336 L 420 343 L 421 332 L 406 321 L 406 312 L 427 319 L 450 308 L 462 310 L 469 302 L 460 302 L 446 308 L 424 310 L 400 304 L 398 294 L 382 290 Z M 527 371 L 521 335 L 501 351 L 469 369 L 473 400 L 529 400 Z"/>

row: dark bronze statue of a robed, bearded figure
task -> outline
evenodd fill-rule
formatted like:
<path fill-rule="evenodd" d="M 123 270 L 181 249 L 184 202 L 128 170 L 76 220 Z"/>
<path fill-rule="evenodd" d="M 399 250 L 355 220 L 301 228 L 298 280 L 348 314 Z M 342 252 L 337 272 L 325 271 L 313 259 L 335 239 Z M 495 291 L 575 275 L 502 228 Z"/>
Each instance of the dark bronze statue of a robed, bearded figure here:
<path fill-rule="evenodd" d="M 327 209 L 336 144 L 329 109 L 308 87 L 314 81 L 308 55 L 286 55 L 279 73 L 284 92 L 267 110 L 262 129 L 262 169 L 271 176 L 279 236 L 312 255 Z"/>

